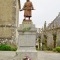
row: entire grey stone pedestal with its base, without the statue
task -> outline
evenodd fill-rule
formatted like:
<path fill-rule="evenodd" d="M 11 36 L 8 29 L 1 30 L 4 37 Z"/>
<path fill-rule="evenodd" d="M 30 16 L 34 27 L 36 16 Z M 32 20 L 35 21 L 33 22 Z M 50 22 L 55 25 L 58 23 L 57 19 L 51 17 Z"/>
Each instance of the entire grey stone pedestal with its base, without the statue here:
<path fill-rule="evenodd" d="M 36 51 L 36 28 L 31 20 L 23 20 L 18 28 L 18 60 L 28 58 L 37 60 Z"/>

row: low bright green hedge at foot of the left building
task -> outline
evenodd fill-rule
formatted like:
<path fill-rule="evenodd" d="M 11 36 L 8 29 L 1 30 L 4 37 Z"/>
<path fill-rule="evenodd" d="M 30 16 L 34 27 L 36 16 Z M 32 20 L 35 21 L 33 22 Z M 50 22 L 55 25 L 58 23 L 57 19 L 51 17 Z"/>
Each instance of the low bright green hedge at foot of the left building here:
<path fill-rule="evenodd" d="M 17 47 L 8 44 L 0 44 L 0 51 L 16 51 Z"/>

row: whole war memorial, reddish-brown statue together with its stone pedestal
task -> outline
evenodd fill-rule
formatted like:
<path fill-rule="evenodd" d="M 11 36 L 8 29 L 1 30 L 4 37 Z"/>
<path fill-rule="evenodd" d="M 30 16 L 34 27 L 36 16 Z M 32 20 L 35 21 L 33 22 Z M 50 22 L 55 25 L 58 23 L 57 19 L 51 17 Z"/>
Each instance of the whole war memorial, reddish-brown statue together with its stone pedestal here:
<path fill-rule="evenodd" d="M 31 11 L 34 10 L 32 2 L 27 0 L 24 7 L 24 19 L 18 27 L 18 60 L 37 60 L 36 51 L 36 28 L 33 24 Z"/>

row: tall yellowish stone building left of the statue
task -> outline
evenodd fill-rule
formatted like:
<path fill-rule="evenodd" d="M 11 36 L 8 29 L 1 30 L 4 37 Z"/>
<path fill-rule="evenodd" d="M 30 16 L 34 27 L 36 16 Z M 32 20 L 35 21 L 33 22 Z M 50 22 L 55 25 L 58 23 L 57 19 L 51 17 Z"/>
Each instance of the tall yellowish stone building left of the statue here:
<path fill-rule="evenodd" d="M 0 43 L 17 40 L 20 0 L 0 0 Z"/>

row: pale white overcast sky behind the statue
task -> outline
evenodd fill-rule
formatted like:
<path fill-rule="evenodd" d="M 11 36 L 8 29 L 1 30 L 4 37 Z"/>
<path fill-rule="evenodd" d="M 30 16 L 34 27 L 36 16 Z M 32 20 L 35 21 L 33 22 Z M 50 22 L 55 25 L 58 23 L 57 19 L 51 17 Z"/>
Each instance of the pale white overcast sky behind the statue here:
<path fill-rule="evenodd" d="M 47 25 L 51 23 L 60 12 L 60 0 L 30 0 L 33 3 L 34 9 L 32 11 L 31 20 L 37 28 L 42 28 L 44 22 Z M 21 0 L 21 8 L 26 0 Z M 24 19 L 24 12 L 19 12 L 19 23 L 22 24 Z"/>

